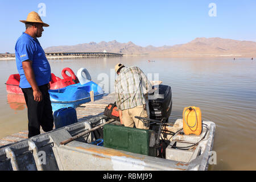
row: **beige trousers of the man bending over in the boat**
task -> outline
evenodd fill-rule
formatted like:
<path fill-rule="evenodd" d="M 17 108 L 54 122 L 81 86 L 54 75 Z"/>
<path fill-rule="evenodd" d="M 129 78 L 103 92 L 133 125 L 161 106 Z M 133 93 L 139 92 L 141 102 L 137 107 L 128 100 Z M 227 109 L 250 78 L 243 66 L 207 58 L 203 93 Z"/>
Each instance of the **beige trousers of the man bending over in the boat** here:
<path fill-rule="evenodd" d="M 141 120 L 135 118 L 135 116 L 147 118 L 147 111 L 144 110 L 143 105 L 122 110 L 123 125 L 126 127 L 134 127 L 135 124 L 137 129 L 148 130 L 149 128 L 144 126 L 144 123 Z"/>

